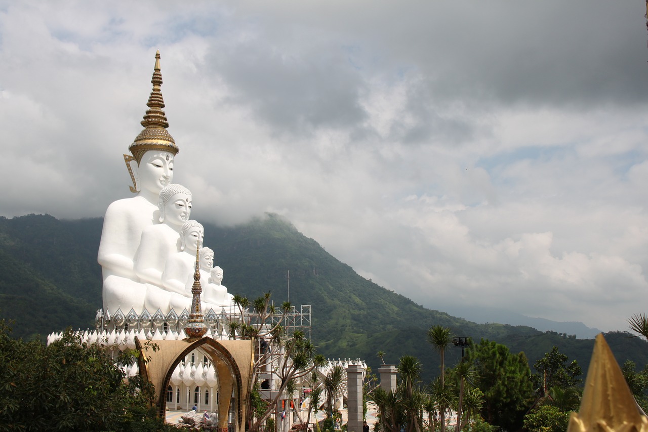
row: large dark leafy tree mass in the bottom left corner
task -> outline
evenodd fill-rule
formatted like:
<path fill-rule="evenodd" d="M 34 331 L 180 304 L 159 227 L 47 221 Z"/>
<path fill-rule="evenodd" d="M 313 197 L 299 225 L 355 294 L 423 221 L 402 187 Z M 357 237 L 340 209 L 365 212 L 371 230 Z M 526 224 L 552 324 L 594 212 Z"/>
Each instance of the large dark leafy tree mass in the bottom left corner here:
<path fill-rule="evenodd" d="M 69 328 L 49 346 L 11 339 L 0 320 L 0 431 L 172 430 L 151 407 L 152 385 L 124 379 L 119 363 L 136 352 L 117 353 Z"/>

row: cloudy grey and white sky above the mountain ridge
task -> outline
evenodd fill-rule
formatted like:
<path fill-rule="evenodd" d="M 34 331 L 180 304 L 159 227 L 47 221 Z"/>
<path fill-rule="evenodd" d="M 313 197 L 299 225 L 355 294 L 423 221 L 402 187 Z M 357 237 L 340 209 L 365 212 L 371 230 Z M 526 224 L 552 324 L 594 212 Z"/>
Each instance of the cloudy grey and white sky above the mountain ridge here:
<path fill-rule="evenodd" d="M 122 154 L 159 49 L 196 219 L 279 213 L 433 309 L 627 330 L 648 312 L 644 13 L 0 0 L 0 215 L 96 217 L 130 196 Z"/>

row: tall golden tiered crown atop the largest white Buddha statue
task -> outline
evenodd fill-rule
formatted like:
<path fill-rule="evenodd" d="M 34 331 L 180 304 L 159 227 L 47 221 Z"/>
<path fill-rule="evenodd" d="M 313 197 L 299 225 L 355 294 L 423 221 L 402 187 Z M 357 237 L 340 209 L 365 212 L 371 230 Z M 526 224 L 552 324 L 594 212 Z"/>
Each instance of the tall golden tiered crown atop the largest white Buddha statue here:
<path fill-rule="evenodd" d="M 178 154 L 179 149 L 176 141 L 167 132 L 168 121 L 167 115 L 162 110 L 164 108 L 164 99 L 162 97 L 162 73 L 160 71 L 160 52 L 156 53 L 156 64 L 154 66 L 153 77 L 151 78 L 153 90 L 148 97 L 148 110 L 141 121 L 144 130 L 139 132 L 135 141 L 128 147 L 128 150 L 133 154 L 137 164 L 142 160 L 143 154 L 147 150 L 163 150 Z"/>

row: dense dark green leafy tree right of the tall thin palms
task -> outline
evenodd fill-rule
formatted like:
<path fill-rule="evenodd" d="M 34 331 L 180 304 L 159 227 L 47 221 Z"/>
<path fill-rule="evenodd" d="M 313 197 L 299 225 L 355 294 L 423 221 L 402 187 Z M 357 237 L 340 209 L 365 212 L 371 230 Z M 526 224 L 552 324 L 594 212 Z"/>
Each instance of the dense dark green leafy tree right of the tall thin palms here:
<path fill-rule="evenodd" d="M 482 414 L 487 422 L 505 430 L 522 427 L 524 414 L 533 402 L 531 370 L 524 353 L 481 339 L 470 344 L 467 357 L 476 366 L 477 387 L 484 392 Z"/>

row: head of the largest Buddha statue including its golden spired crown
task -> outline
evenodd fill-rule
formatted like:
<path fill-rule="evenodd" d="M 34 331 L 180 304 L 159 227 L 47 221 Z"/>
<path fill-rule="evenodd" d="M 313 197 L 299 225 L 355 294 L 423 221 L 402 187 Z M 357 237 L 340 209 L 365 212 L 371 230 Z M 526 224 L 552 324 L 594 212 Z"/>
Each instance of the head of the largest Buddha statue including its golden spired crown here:
<path fill-rule="evenodd" d="M 151 80 L 153 90 L 146 103 L 148 110 L 141 121 L 144 130 L 128 147 L 132 156 L 124 154 L 124 162 L 133 181 L 130 190 L 137 193 L 144 191 L 145 195 L 153 197 L 172 182 L 173 158 L 179 152 L 176 141 L 167 132 L 167 116 L 162 110 L 165 105 L 160 91 L 162 74 L 159 59 L 160 53 L 157 51 Z"/>

